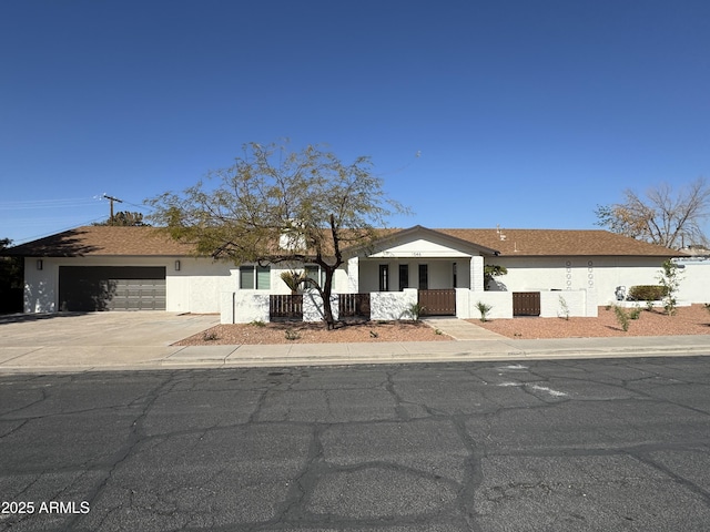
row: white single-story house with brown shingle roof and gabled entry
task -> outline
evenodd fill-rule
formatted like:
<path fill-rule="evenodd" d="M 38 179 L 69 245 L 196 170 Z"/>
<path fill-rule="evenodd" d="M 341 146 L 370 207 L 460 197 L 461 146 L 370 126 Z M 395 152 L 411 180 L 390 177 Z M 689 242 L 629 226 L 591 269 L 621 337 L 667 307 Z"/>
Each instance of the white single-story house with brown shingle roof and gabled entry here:
<path fill-rule="evenodd" d="M 288 266 L 197 257 L 191 245 L 153 227 L 79 227 L 6 253 L 26 257 L 26 313 L 155 309 L 267 320 L 268 296 L 290 294 L 280 278 Z M 373 319 L 406 316 L 417 301 L 429 314 L 464 318 L 479 316 L 479 301 L 494 307 L 490 317 L 555 316 L 562 298 L 570 315 L 596 316 L 619 286 L 658 284 L 662 262 L 683 255 L 606 231 L 415 226 L 383 232 L 374 245 L 351 249 L 333 293 L 369 294 Z M 505 266 L 508 274 L 484 291 L 486 264 Z M 315 265 L 292 266 L 322 276 Z M 515 310 L 519 293 L 539 294 L 537 311 Z"/>

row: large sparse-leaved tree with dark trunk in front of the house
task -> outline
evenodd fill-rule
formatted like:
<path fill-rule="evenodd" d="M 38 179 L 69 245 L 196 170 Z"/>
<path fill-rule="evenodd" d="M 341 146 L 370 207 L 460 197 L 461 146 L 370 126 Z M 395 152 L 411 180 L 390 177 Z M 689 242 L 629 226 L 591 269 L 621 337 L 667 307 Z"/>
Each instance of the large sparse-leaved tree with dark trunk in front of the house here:
<path fill-rule="evenodd" d="M 333 275 L 346 247 L 366 245 L 390 214 L 406 212 L 389 200 L 368 157 L 345 164 L 318 146 L 288 152 L 284 145 L 244 146 L 229 168 L 183 194 L 165 193 L 149 204 L 151 218 L 199 253 L 235 264 L 317 264 L 323 279 L 305 278 L 323 298 L 334 327 Z"/>

